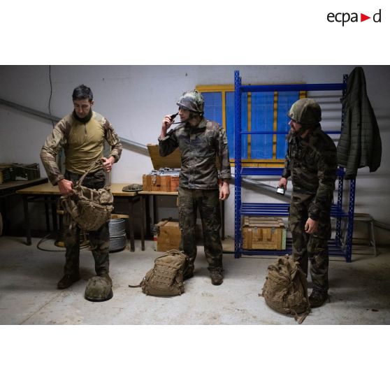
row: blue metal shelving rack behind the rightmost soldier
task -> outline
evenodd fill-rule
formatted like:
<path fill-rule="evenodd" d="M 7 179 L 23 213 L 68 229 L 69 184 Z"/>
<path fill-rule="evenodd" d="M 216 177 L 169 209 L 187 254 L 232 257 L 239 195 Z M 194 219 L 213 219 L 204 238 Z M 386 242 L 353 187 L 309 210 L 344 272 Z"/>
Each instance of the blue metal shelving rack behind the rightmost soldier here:
<path fill-rule="evenodd" d="M 342 91 L 345 94 L 347 86 L 347 75 L 343 76 L 343 82 L 340 84 L 294 84 L 294 85 L 241 85 L 239 71 L 234 73 L 234 151 L 235 151 L 235 214 L 234 214 L 234 257 L 238 259 L 241 254 L 285 254 L 291 252 L 291 243 L 287 242 L 287 249 L 282 251 L 270 250 L 243 250 L 243 241 L 241 236 L 241 217 L 250 216 L 281 216 L 289 215 L 289 203 L 242 203 L 241 201 L 241 178 L 244 176 L 275 176 L 282 175 L 282 168 L 259 168 L 241 166 L 241 137 L 248 134 L 248 131 L 241 129 L 241 94 L 246 92 L 291 92 L 291 91 Z M 344 124 L 344 113 L 342 113 L 341 129 Z M 340 131 L 328 131 L 327 133 L 340 133 Z M 259 133 L 251 131 L 250 134 Z M 273 132 L 270 132 L 273 133 Z M 264 134 L 264 132 L 261 132 Z M 352 233 L 354 223 L 354 203 L 355 203 L 355 180 L 350 180 L 349 185 L 349 206 L 345 211 L 342 208 L 342 194 L 344 190 L 343 168 L 338 168 L 338 199 L 337 203 L 331 208 L 331 216 L 336 218 L 335 238 L 329 242 L 329 254 L 331 256 L 345 257 L 347 262 L 351 261 L 352 255 Z M 345 245 L 342 245 L 342 219 L 347 218 L 347 238 Z"/>

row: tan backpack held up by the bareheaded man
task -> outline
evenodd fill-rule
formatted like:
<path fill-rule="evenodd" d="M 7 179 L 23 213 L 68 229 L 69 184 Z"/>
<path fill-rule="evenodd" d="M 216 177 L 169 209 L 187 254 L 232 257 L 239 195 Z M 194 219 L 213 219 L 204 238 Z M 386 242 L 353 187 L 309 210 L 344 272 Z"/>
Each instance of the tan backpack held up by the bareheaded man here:
<path fill-rule="evenodd" d="M 103 166 L 99 159 L 90 166 L 73 187 L 73 194 L 61 196 L 62 207 L 71 215 L 71 219 L 82 230 L 98 230 L 111 217 L 114 197 L 110 187 L 90 189 L 82 185 L 85 176 L 98 166 Z"/>

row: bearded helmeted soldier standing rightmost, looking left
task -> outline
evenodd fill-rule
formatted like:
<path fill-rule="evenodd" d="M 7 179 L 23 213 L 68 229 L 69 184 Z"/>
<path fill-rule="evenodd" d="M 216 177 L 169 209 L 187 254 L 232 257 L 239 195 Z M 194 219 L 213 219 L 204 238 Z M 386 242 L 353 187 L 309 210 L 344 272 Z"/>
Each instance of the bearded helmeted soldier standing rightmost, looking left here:
<path fill-rule="evenodd" d="M 314 99 L 296 101 L 288 115 L 289 146 L 279 186 L 287 189 L 291 176 L 289 229 L 293 257 L 306 275 L 310 259 L 313 289 L 309 301 L 316 308 L 328 299 L 328 240 L 337 152 L 333 140 L 321 129 L 321 108 Z"/>

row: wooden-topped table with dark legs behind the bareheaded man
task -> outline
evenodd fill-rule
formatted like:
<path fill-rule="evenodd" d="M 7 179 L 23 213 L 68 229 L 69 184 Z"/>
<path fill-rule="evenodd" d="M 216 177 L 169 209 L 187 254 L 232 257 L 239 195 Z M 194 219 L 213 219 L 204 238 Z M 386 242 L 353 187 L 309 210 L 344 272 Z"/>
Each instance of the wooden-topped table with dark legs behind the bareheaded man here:
<path fill-rule="evenodd" d="M 47 179 L 46 179 L 47 180 Z M 136 192 L 124 192 L 122 188 L 128 185 L 129 183 L 113 183 L 111 187 L 111 192 L 113 193 L 114 198 L 127 198 L 129 201 L 129 238 L 130 238 L 130 249 L 131 252 L 134 252 L 134 219 L 133 216 L 133 203 L 136 203 L 141 199 Z M 59 189 L 58 186 L 53 186 L 50 183 L 45 183 L 42 185 L 36 185 L 34 187 L 28 187 L 20 189 L 17 191 L 17 194 L 22 195 L 23 198 L 23 208 L 24 208 L 24 222 L 26 224 L 26 238 L 27 245 L 31 245 L 31 226 L 30 226 L 30 217 L 29 217 L 29 202 L 40 202 L 45 203 L 45 216 L 46 216 L 46 228 L 50 231 L 50 218 L 48 212 L 48 205 L 52 206 L 52 224 L 53 230 L 57 230 L 57 199 L 59 198 Z M 142 203 L 142 202 L 141 202 Z M 142 212 L 142 215 L 143 212 Z M 144 231 L 143 223 L 141 223 L 141 240 L 144 242 Z"/>

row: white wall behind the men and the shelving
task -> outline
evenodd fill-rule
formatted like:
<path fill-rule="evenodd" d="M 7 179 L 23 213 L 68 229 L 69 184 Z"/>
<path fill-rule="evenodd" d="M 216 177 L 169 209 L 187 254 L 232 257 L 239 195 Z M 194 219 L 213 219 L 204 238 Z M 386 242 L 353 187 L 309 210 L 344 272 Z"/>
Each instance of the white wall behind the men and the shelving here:
<path fill-rule="evenodd" d="M 342 82 L 354 66 L 52 66 L 52 115 L 73 109 L 71 94 L 81 83 L 94 92 L 94 110 L 113 123 L 119 136 L 141 144 L 157 143 L 162 117 L 177 110 L 182 92 L 195 85 L 233 84 L 238 69 L 243 84 Z M 390 224 L 390 66 L 363 66 L 368 96 L 382 136 L 382 165 L 375 173 L 359 170 L 356 212 L 368 212 Z M 48 113 L 49 66 L 0 66 L 0 98 Z M 337 103 L 324 115 L 324 129 L 339 123 Z M 333 118 L 333 119 L 332 119 Z M 0 162 L 39 161 L 43 142 L 52 129 L 47 120 L 0 105 Z M 339 127 L 337 128 L 339 129 Z M 124 147 L 113 170 L 113 182 L 141 182 L 152 169 L 150 159 Z M 41 175 L 45 172 L 41 167 Z M 234 192 L 226 205 L 226 233 L 233 235 Z M 263 192 L 246 192 L 257 201 L 275 201 Z M 277 198 L 276 198 L 277 199 Z M 388 231 L 377 232 L 388 242 Z"/>

